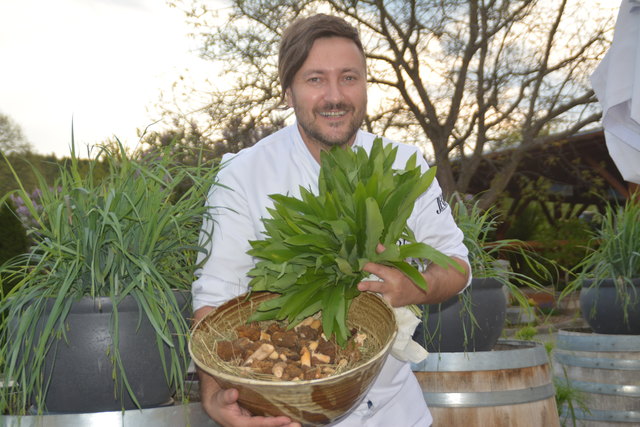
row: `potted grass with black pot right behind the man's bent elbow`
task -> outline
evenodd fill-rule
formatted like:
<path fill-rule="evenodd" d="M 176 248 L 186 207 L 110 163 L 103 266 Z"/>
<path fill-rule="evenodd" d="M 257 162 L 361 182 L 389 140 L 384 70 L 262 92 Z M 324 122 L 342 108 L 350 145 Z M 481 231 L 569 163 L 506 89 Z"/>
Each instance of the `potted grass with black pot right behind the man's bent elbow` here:
<path fill-rule="evenodd" d="M 511 270 L 505 257 L 517 253 L 541 276 L 543 263 L 517 239 L 494 238 L 498 219 L 478 202 L 450 199 L 453 217 L 464 234 L 473 278 L 462 293 L 440 304 L 423 306 L 423 322 L 414 339 L 430 352 L 489 351 L 504 329 L 508 299 L 532 313 L 523 288 L 543 290 L 533 278 Z"/>

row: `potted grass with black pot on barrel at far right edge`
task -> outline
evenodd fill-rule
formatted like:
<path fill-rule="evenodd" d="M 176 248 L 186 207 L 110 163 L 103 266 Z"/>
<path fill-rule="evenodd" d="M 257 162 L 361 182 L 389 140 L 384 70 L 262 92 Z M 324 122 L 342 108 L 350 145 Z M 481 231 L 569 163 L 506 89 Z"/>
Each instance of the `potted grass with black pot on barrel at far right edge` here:
<path fill-rule="evenodd" d="M 640 334 L 640 197 L 606 205 L 597 219 L 587 255 L 561 298 L 580 290 L 582 316 L 593 332 Z"/>

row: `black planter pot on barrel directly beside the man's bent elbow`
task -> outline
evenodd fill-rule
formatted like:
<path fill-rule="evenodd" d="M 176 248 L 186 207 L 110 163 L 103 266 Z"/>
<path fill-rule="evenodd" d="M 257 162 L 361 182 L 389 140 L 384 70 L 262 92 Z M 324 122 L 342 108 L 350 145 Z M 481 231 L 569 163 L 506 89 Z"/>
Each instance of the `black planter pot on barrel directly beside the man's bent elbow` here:
<path fill-rule="evenodd" d="M 477 324 L 464 307 L 468 298 Z M 502 283 L 493 278 L 473 279 L 464 292 L 441 304 L 424 306 L 424 317 L 413 339 L 434 353 L 489 351 L 502 334 L 507 298 Z"/>

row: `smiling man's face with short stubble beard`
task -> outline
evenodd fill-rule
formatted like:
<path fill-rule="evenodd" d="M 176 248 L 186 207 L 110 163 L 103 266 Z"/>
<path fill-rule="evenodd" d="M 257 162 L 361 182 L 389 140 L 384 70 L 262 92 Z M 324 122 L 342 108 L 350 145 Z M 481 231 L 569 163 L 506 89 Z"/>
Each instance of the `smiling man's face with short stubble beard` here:
<path fill-rule="evenodd" d="M 317 39 L 286 99 L 307 144 L 352 144 L 367 110 L 365 60 L 355 43 L 343 37 Z"/>

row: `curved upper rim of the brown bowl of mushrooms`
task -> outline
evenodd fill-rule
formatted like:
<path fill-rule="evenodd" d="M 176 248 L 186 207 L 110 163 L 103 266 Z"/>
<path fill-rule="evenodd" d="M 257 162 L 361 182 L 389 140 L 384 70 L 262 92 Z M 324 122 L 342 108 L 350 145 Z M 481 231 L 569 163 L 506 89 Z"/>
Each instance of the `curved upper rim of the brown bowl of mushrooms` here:
<path fill-rule="evenodd" d="M 242 298 L 242 297 L 245 297 L 247 294 L 248 293 L 244 293 L 244 294 L 241 294 L 238 297 L 235 297 L 235 298 L 232 298 L 232 299 Z M 363 293 L 363 294 L 365 294 L 365 293 Z M 378 352 L 376 352 L 373 356 L 371 356 L 369 358 L 369 360 L 367 360 L 365 363 L 362 363 L 362 364 L 360 364 L 358 366 L 355 366 L 355 367 L 353 367 L 351 369 L 348 369 L 348 370 L 346 370 L 344 372 L 341 372 L 339 374 L 331 375 L 331 376 L 328 376 L 328 377 L 325 377 L 325 378 L 313 379 L 313 380 L 297 380 L 297 381 L 261 380 L 261 379 L 255 379 L 255 378 L 247 378 L 247 377 L 243 377 L 243 376 L 239 376 L 239 375 L 231 375 L 231 374 L 228 374 L 226 372 L 221 372 L 221 371 L 218 371 L 216 369 L 211 368 L 210 366 L 205 365 L 194 354 L 193 349 L 191 347 L 191 343 L 193 342 L 193 334 L 196 332 L 198 327 L 207 318 L 209 318 L 210 316 L 213 316 L 215 314 L 215 312 L 216 312 L 215 309 L 211 310 L 209 313 L 207 313 L 192 328 L 191 333 L 190 333 L 190 337 L 189 337 L 190 338 L 189 339 L 189 343 L 188 343 L 189 354 L 190 354 L 191 359 L 193 360 L 193 362 L 196 364 L 196 366 L 198 366 L 198 368 L 202 369 L 203 371 L 205 371 L 209 375 L 213 376 L 214 378 L 220 378 L 220 379 L 223 379 L 223 380 L 226 380 L 226 381 L 230 381 L 230 382 L 235 382 L 235 383 L 242 383 L 242 384 L 253 385 L 253 386 L 297 387 L 297 386 L 300 386 L 300 385 L 303 385 L 303 384 L 305 384 L 305 385 L 307 385 L 307 384 L 314 385 L 314 384 L 331 384 L 332 382 L 338 382 L 338 381 L 340 381 L 340 379 L 342 377 L 348 376 L 348 375 L 352 374 L 354 371 L 362 370 L 366 366 L 375 363 L 381 357 L 386 357 L 386 355 L 388 353 L 390 353 L 391 346 L 395 342 L 396 336 L 398 335 L 398 323 L 397 323 L 397 320 L 396 320 L 396 317 L 395 317 L 395 313 L 394 313 L 391 305 L 384 298 L 380 297 L 378 294 L 367 292 L 366 295 L 370 295 L 372 297 L 375 297 L 379 302 L 382 302 L 382 304 L 384 304 L 384 306 L 389 310 L 389 314 L 391 315 L 391 320 L 393 321 L 393 331 L 391 333 L 391 336 L 387 340 L 387 342 L 382 346 L 382 348 Z"/>

